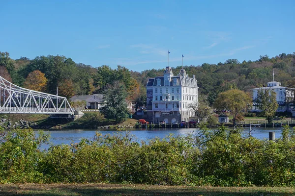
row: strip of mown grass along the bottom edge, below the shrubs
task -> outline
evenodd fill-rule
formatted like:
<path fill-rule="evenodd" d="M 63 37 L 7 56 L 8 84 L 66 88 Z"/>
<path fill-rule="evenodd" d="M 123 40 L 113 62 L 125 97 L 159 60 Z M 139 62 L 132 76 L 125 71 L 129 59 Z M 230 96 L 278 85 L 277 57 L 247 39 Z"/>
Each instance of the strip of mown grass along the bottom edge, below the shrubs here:
<path fill-rule="evenodd" d="M 5 196 L 291 196 L 290 187 L 189 187 L 122 184 L 0 184 Z"/>

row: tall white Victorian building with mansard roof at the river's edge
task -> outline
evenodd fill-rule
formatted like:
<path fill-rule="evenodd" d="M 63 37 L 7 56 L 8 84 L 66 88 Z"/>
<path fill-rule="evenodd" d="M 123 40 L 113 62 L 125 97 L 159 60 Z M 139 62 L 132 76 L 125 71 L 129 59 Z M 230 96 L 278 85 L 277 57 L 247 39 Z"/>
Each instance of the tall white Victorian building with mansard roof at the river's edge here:
<path fill-rule="evenodd" d="M 184 69 L 173 75 L 172 69 L 166 67 L 163 76 L 148 79 L 147 114 L 153 123 L 189 121 L 194 112 L 188 105 L 195 101 L 198 101 L 197 80 Z"/>

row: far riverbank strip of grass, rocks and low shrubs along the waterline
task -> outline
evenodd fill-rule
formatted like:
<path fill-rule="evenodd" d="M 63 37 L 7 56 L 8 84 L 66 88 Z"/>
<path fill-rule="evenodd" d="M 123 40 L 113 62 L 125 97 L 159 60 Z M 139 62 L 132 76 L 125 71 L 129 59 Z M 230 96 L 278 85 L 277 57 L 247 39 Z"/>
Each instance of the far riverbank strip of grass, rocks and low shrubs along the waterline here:
<path fill-rule="evenodd" d="M 100 128 L 141 128 L 140 123 L 136 119 L 126 119 L 122 123 L 117 123 L 115 120 L 103 118 L 98 112 L 85 112 L 86 114 L 76 120 L 67 119 L 51 119 L 50 115 L 46 114 L 2 114 L 0 115 L 0 126 L 3 128 L 33 128 L 33 129 L 100 129 Z M 231 118 L 231 116 L 230 116 Z M 272 123 L 267 123 L 263 117 L 245 117 L 244 121 L 237 122 L 238 127 L 249 127 L 250 123 L 261 124 L 262 127 L 282 127 L 285 124 L 295 126 L 295 121 L 291 118 L 278 118 L 278 121 L 273 120 Z M 197 125 L 189 127 L 195 128 Z M 219 125 L 208 125 L 209 127 L 217 128 Z M 232 127 L 233 123 L 225 123 L 225 126 Z M 180 126 L 179 126 L 180 127 Z M 142 125 L 142 128 L 171 128 L 171 123 L 167 126 L 159 124 L 148 124 L 147 127 Z M 178 128 L 173 125 L 173 128 Z"/>

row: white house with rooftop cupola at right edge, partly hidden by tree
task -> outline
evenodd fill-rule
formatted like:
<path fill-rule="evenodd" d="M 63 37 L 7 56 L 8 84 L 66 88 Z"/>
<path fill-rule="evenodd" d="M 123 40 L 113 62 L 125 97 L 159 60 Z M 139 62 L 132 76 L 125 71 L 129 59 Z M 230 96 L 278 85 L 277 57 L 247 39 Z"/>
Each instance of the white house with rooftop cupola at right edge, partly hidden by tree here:
<path fill-rule="evenodd" d="M 294 100 L 294 90 L 295 89 L 283 87 L 283 86 L 281 86 L 280 82 L 276 82 L 276 81 L 267 82 L 266 87 L 252 89 L 253 90 L 252 111 L 259 111 L 254 100 L 257 98 L 258 91 L 265 90 L 265 89 L 273 90 L 276 93 L 276 100 L 279 104 L 277 112 L 292 111 L 293 105 L 288 104 L 288 102 L 291 102 Z"/>

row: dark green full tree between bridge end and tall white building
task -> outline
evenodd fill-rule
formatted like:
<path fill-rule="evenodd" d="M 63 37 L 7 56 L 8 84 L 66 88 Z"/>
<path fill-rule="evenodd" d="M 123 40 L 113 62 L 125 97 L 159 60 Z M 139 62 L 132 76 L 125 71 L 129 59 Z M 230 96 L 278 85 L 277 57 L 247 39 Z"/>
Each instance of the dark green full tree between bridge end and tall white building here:
<path fill-rule="evenodd" d="M 107 119 L 116 119 L 117 122 L 122 122 L 128 115 L 126 98 L 127 92 L 123 84 L 118 81 L 113 85 L 109 84 L 103 97 L 103 106 L 99 108 L 99 111 Z"/>

